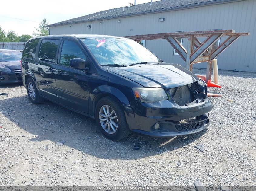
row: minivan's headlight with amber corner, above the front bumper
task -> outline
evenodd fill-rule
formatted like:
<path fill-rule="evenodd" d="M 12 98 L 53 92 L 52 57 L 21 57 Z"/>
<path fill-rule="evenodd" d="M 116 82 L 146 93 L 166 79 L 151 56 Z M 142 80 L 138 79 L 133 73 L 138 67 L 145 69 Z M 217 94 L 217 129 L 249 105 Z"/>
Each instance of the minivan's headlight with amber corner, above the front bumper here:
<path fill-rule="evenodd" d="M 138 101 L 153 103 L 160 100 L 168 100 L 165 90 L 162 88 L 132 88 Z"/>

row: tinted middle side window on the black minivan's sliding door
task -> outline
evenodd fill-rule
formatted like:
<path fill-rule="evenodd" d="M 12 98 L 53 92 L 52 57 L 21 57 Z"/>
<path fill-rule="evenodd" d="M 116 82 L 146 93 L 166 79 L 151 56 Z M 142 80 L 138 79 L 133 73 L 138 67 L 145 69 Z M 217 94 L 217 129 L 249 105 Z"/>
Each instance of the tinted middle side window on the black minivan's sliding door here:
<path fill-rule="evenodd" d="M 59 40 L 50 39 L 50 40 L 42 40 L 38 59 L 46 62 L 55 63 L 56 53 L 59 45 Z"/>

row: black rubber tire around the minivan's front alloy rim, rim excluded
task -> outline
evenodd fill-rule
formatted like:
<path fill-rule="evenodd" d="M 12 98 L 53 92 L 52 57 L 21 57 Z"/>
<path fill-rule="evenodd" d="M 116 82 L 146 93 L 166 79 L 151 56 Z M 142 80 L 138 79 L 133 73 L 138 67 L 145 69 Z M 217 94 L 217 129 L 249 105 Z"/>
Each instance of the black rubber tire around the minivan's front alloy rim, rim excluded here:
<path fill-rule="evenodd" d="M 115 111 L 115 114 L 118 119 L 117 130 L 113 134 L 109 134 L 101 126 L 99 113 L 100 113 L 101 107 L 104 105 L 110 106 Z M 103 97 L 98 101 L 95 108 L 95 119 L 96 119 L 99 130 L 109 139 L 119 141 L 123 138 L 126 138 L 130 133 L 129 128 L 127 126 L 125 113 L 121 105 L 118 103 L 118 101 L 113 97 L 110 97 L 110 96 Z"/>

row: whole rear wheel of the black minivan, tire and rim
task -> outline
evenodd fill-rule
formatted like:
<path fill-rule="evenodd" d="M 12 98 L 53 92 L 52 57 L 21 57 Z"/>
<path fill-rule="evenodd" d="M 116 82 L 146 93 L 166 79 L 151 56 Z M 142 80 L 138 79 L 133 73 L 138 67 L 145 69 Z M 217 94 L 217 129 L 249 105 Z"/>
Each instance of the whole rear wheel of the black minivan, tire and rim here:
<path fill-rule="evenodd" d="M 35 82 L 32 80 L 32 78 L 28 78 L 26 82 L 26 88 L 28 93 L 28 99 L 34 103 L 42 103 L 44 99 L 39 96 L 38 90 L 36 88 Z"/>

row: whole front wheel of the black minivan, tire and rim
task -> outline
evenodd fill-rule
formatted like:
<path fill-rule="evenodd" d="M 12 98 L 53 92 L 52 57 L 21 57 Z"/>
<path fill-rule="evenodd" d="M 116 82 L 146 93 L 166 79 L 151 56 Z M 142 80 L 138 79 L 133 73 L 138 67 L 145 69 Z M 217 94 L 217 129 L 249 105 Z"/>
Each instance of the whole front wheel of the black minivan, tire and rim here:
<path fill-rule="evenodd" d="M 130 133 L 125 113 L 113 97 L 103 97 L 98 101 L 95 108 L 95 119 L 100 131 L 109 139 L 118 141 Z"/>

